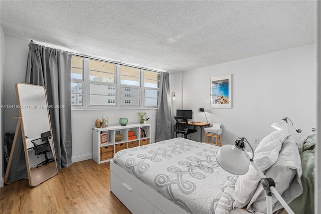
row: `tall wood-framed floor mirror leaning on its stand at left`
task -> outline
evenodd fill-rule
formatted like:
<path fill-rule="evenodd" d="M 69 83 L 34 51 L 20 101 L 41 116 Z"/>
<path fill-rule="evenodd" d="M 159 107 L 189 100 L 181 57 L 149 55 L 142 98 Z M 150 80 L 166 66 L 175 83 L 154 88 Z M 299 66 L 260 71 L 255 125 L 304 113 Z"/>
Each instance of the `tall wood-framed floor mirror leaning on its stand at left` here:
<path fill-rule="evenodd" d="M 21 129 L 29 185 L 37 186 L 58 172 L 50 124 L 50 106 L 48 106 L 46 89 L 43 86 L 17 83 L 16 92 L 19 117 L 17 117 L 15 139 L 17 140 L 19 129 Z M 6 176 L 9 174 L 12 160 L 15 158 L 15 139 Z"/>

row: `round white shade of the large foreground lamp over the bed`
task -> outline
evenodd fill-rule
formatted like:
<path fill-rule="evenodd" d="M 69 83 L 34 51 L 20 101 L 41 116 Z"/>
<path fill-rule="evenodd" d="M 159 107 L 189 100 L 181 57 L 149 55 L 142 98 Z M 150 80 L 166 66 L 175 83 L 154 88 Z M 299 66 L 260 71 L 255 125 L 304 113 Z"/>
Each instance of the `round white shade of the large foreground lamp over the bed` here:
<path fill-rule="evenodd" d="M 218 164 L 227 172 L 243 175 L 249 170 L 250 162 L 241 149 L 234 145 L 224 145 L 216 152 Z"/>

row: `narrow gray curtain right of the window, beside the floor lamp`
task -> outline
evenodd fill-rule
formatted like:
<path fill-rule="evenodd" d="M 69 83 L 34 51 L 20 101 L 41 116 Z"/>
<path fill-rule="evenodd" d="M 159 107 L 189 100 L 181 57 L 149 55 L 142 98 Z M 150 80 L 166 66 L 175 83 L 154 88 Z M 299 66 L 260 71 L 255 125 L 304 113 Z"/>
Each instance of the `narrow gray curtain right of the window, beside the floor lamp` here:
<path fill-rule="evenodd" d="M 159 142 L 173 138 L 172 130 L 170 74 L 162 72 L 159 85 L 155 141 Z"/>

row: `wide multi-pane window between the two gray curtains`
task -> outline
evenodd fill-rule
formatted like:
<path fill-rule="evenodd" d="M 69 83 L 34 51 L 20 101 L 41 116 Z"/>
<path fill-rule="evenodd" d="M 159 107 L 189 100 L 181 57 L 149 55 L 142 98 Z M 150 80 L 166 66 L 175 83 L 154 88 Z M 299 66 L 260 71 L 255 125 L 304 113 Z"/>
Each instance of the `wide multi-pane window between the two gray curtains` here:
<path fill-rule="evenodd" d="M 160 73 L 72 57 L 73 108 L 157 108 Z"/>

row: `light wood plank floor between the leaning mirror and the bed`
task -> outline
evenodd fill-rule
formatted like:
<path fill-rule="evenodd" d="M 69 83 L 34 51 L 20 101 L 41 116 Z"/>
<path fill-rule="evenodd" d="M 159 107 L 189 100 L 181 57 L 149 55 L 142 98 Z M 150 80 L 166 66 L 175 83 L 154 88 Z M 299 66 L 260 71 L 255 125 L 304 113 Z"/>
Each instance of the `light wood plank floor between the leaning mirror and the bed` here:
<path fill-rule="evenodd" d="M 109 162 L 76 162 L 36 187 L 2 187 L 0 213 L 130 213 L 109 189 Z"/>

